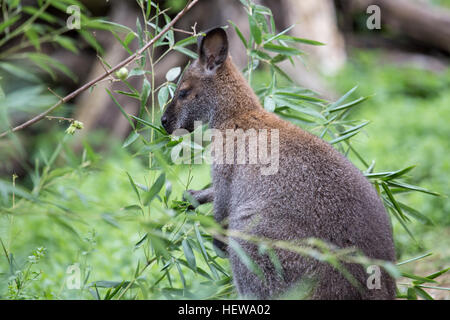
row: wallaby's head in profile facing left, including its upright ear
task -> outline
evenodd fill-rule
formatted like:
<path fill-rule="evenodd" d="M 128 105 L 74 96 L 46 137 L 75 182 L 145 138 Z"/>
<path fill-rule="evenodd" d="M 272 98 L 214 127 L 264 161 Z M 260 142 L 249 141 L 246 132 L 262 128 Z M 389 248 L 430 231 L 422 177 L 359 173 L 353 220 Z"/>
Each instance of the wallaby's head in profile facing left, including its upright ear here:
<path fill-rule="evenodd" d="M 194 130 L 194 121 L 208 122 L 223 87 L 223 69 L 228 58 L 225 30 L 215 28 L 198 41 L 198 59 L 183 73 L 174 97 L 161 117 L 167 133 Z"/>

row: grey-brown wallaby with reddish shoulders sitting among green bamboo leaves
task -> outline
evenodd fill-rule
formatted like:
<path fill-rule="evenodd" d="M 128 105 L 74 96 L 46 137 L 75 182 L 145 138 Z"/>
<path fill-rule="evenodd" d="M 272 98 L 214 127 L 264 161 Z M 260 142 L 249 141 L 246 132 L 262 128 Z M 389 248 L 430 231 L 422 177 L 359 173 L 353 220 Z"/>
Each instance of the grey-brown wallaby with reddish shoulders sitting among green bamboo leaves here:
<path fill-rule="evenodd" d="M 161 117 L 169 134 L 181 128 L 193 131 L 194 121 L 224 134 L 227 129 L 266 129 L 278 134 L 276 173 L 261 174 L 262 164 L 214 162 L 212 187 L 191 191 L 199 203 L 213 201 L 215 219 L 230 231 L 284 241 L 317 238 L 339 248 L 355 247 L 369 258 L 394 261 L 390 220 L 370 182 L 330 144 L 263 109 L 233 64 L 222 28 L 199 39 L 198 59 L 183 73 Z M 280 298 L 304 279 L 315 281 L 312 299 L 395 297 L 395 281 L 383 269 L 381 286 L 369 289 L 370 274 L 364 267 L 343 264 L 359 282 L 357 287 L 328 263 L 278 248 L 275 252 L 282 267 L 278 272 L 254 242 L 230 238 L 264 275 L 261 279 L 250 271 L 230 247 L 233 279 L 242 297 Z"/>

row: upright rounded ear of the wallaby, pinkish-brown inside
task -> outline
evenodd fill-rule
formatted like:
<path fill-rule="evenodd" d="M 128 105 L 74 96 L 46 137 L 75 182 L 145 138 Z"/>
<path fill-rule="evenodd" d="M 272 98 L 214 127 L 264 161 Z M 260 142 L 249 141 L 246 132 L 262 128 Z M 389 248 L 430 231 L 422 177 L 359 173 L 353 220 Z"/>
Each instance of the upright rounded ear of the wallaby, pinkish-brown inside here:
<path fill-rule="evenodd" d="M 217 70 L 228 56 L 228 38 L 225 30 L 215 28 L 206 31 L 206 35 L 198 42 L 198 56 L 207 71 Z"/>

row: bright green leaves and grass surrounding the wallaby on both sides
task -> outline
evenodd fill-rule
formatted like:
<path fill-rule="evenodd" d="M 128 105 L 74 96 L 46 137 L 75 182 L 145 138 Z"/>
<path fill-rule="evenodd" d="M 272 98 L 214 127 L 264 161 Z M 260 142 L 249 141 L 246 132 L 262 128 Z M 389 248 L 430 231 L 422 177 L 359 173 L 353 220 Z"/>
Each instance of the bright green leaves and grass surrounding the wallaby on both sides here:
<path fill-rule="evenodd" d="M 378 66 L 376 56 L 362 54 L 338 75 L 338 89 L 347 93 L 336 102 L 324 101 L 291 83 L 277 67 L 277 63 L 287 59 L 294 62 L 302 54 L 296 43 L 320 43 L 276 33 L 269 9 L 241 2 L 249 13 L 251 36 L 244 38 L 238 26 L 230 29 L 240 35 L 247 48 L 244 74 L 255 85 L 264 107 L 333 143 L 364 170 L 391 214 L 399 261 L 428 251 L 437 253 L 437 261 L 423 257 L 398 269 L 385 265 L 392 274 L 400 271 L 407 278 L 408 285 L 400 286 L 400 297 L 429 298 L 423 288 L 439 286 L 438 277 L 447 271 L 448 202 L 429 190 L 448 194 L 445 147 L 449 142 L 445 138 L 449 136 L 449 116 L 445 107 L 450 98 L 449 73 L 435 75 L 414 69 L 399 72 L 388 65 Z M 138 22 L 136 31 L 109 25 L 127 51 L 129 41 L 137 39 L 142 47 L 162 30 L 161 25 L 170 22 L 170 17 L 153 3 L 138 3 L 145 24 Z M 105 23 L 96 26 L 105 28 Z M 152 72 L 160 59 L 154 56 L 154 48 L 161 47 L 163 56 L 177 50 L 195 57 L 188 45 L 195 43 L 197 36 L 175 42 L 170 30 L 128 72 L 116 74 L 117 81 L 123 81 L 129 89 L 108 91 L 130 122 L 132 130 L 125 141 L 116 141 L 105 132 L 90 132 L 82 152 L 76 153 L 74 135 L 82 125 L 60 118 L 62 122 L 56 128 L 44 129 L 33 139 L 33 152 L 24 164 L 29 168 L 27 175 L 0 179 L 1 298 L 236 297 L 228 261 L 217 255 L 211 244 L 212 234 L 225 233 L 212 219 L 212 206 L 191 210 L 189 202 L 183 200 L 185 190 L 210 182 L 209 168 L 173 164 L 170 154 L 182 139 L 167 136 L 159 125 L 160 112 L 173 95 L 182 70 L 174 66 L 166 74 L 167 81 L 156 87 Z M 264 81 L 255 72 L 258 66 L 267 73 L 265 86 L 260 85 Z M 6 72 L 8 77 L 23 79 L 20 70 L 9 68 Z M 141 88 L 128 82 L 135 76 L 143 77 Z M 21 104 L 14 104 L 11 98 L 14 93 L 25 99 L 24 104 L 38 101 L 40 108 L 54 102 L 38 99 L 44 95 L 41 80 L 23 80 L 35 81 L 40 89 L 18 94 L 16 90 L 22 89 L 2 82 L 2 132 L 9 128 L 9 119 L 20 112 Z M 354 88 L 358 84 L 359 88 Z M 361 97 L 373 93 L 376 95 L 370 99 Z M 140 101 L 137 116 L 127 114 L 117 103 L 119 94 Z M 58 112 L 57 116 L 70 116 L 67 109 Z M 27 144 L 27 137 L 20 133 L 0 140 L 2 167 L 8 167 L 8 159 L 16 152 L 24 153 Z M 376 160 L 376 166 L 372 160 Z M 414 164 L 419 166 L 412 170 Z M 266 252 L 274 249 L 270 242 L 258 242 Z M 336 259 L 370 262 L 318 241 L 292 250 L 330 263 Z M 249 268 L 257 269 L 245 253 L 242 259 Z M 422 277 L 413 274 L 416 266 L 426 266 L 420 270 Z M 77 270 L 80 289 L 70 289 L 77 286 Z"/>

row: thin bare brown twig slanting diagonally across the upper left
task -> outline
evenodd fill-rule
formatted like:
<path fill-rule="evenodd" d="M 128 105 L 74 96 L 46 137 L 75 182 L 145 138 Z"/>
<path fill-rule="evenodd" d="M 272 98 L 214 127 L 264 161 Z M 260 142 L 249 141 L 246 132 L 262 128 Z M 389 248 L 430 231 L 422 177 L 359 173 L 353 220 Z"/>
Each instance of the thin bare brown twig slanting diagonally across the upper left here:
<path fill-rule="evenodd" d="M 66 103 L 70 100 L 72 100 L 73 98 L 75 98 L 77 95 L 79 95 L 80 93 L 86 91 L 87 89 L 89 89 L 90 87 L 92 87 L 93 85 L 95 85 L 97 82 L 105 79 L 106 77 L 109 77 L 113 72 L 119 70 L 122 67 L 127 66 L 129 63 L 133 62 L 134 60 L 136 60 L 138 57 L 140 57 L 142 55 L 142 53 L 145 52 L 145 50 L 147 50 L 152 44 L 154 44 L 159 38 L 161 38 L 167 31 L 170 30 L 170 28 L 172 28 L 175 23 L 187 12 L 189 11 L 199 0 L 192 0 L 190 1 L 186 7 L 184 7 L 183 10 L 181 10 L 176 16 L 175 18 L 173 18 L 173 20 L 164 27 L 164 29 L 161 30 L 160 33 L 158 33 L 152 40 L 150 40 L 149 42 L 147 42 L 145 44 L 145 46 L 143 46 L 139 51 L 137 51 L 136 53 L 132 54 L 131 56 L 129 56 L 128 58 L 126 58 L 125 60 L 123 60 L 122 62 L 120 62 L 118 65 L 116 65 L 115 67 L 111 68 L 109 71 L 106 71 L 104 74 L 98 76 L 97 78 L 89 81 L 88 83 L 86 83 L 85 85 L 81 86 L 80 88 L 78 88 L 77 90 L 73 91 L 72 93 L 68 94 L 67 96 L 65 96 L 63 99 L 60 99 L 57 103 L 55 103 L 53 106 L 51 106 L 50 108 L 48 108 L 46 111 L 42 112 L 41 114 L 37 115 L 36 117 L 8 130 L 3 132 L 2 134 L 0 134 L 0 138 L 5 137 L 6 135 L 8 135 L 11 132 L 16 132 L 19 130 L 22 130 L 26 127 L 29 127 L 33 124 L 35 124 L 38 121 L 41 121 L 42 119 L 45 118 L 45 116 L 47 116 L 48 114 L 50 114 L 51 112 L 53 112 L 54 110 L 56 110 L 59 106 L 61 106 L 63 103 Z"/>

